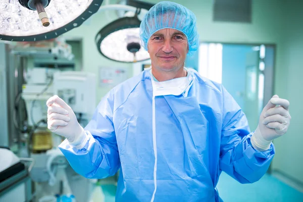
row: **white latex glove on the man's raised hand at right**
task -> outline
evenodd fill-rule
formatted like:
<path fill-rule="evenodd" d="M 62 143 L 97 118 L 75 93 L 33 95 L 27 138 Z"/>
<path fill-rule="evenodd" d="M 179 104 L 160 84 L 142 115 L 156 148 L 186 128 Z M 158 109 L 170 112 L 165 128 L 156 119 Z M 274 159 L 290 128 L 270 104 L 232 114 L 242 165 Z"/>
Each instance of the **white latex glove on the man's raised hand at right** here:
<path fill-rule="evenodd" d="M 271 141 L 287 132 L 290 123 L 287 99 L 274 95 L 264 107 L 258 127 L 251 137 L 251 144 L 256 149 L 264 151 L 269 149 Z"/>

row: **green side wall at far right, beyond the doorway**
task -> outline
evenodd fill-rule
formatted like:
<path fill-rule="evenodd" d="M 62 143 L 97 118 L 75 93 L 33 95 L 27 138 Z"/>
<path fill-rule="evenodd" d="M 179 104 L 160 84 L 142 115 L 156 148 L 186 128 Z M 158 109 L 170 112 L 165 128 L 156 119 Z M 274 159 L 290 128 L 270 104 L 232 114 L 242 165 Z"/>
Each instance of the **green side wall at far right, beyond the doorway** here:
<path fill-rule="evenodd" d="M 283 11 L 281 55 L 277 56 L 281 64 L 276 68 L 285 75 L 275 74 L 275 92 L 289 100 L 291 122 L 287 134 L 274 140 L 276 156 L 272 168 L 303 183 L 303 2 L 284 1 Z"/>

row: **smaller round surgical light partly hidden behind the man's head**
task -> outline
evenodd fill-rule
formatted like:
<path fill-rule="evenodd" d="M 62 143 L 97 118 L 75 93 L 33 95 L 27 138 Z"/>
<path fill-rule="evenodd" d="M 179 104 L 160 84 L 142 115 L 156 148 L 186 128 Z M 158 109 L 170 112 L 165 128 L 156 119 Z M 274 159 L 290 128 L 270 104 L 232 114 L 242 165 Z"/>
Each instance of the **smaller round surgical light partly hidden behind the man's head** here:
<path fill-rule="evenodd" d="M 154 5 L 134 0 L 129 0 L 126 4 L 123 6 L 126 11 L 133 12 L 130 8 L 135 9 L 134 16 L 119 18 L 102 28 L 95 37 L 97 49 L 104 57 L 118 62 L 132 63 L 148 60 L 149 54 L 141 46 L 139 36 L 141 21 L 138 16 L 142 12 L 141 9 L 144 12 Z M 116 8 L 123 10 L 122 7 L 116 6 Z M 106 6 L 101 9 L 106 9 Z"/>

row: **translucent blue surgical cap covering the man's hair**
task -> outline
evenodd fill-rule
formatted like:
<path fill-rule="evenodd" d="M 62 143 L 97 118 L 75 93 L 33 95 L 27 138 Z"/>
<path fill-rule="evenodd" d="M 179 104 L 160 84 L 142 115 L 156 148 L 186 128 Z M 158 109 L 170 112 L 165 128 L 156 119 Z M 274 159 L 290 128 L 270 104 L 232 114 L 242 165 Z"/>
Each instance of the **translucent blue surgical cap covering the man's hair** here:
<path fill-rule="evenodd" d="M 185 34 L 188 41 L 188 55 L 192 55 L 199 45 L 195 15 L 180 4 L 160 2 L 151 7 L 140 24 L 142 46 L 147 51 L 147 43 L 151 35 L 165 29 L 176 29 Z"/>

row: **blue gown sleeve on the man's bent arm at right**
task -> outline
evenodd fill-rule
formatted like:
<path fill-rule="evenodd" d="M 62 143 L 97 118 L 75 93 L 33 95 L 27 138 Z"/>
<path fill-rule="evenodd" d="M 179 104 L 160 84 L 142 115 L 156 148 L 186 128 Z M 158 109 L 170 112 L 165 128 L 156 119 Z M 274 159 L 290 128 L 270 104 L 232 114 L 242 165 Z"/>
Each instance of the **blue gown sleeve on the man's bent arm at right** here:
<path fill-rule="evenodd" d="M 223 124 L 220 162 L 222 171 L 240 183 L 256 182 L 266 173 L 275 154 L 273 143 L 267 151 L 258 151 L 250 143 L 251 135 L 245 114 L 222 86 Z"/>

